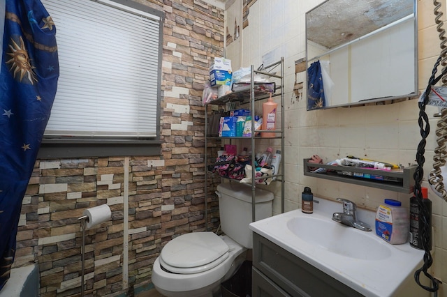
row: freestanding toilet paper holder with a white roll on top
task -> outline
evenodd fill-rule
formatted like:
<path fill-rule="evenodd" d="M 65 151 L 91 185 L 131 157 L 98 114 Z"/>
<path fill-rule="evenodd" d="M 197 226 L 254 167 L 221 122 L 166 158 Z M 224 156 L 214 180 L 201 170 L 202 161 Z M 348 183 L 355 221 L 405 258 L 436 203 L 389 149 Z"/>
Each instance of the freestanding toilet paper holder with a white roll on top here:
<path fill-rule="evenodd" d="M 81 222 L 82 246 L 81 246 L 81 297 L 84 297 L 84 270 L 85 270 L 85 229 L 91 229 L 96 224 L 101 224 L 112 218 L 112 212 L 107 204 L 86 209 L 78 220 Z"/>

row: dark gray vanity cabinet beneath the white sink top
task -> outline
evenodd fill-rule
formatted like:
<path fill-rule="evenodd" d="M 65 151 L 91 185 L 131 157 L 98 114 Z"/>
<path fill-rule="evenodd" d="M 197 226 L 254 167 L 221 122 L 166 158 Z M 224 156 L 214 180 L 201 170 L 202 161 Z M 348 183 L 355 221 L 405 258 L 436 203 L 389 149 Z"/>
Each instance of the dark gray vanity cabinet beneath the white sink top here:
<path fill-rule="evenodd" d="M 252 296 L 363 296 L 306 261 L 253 233 Z"/>

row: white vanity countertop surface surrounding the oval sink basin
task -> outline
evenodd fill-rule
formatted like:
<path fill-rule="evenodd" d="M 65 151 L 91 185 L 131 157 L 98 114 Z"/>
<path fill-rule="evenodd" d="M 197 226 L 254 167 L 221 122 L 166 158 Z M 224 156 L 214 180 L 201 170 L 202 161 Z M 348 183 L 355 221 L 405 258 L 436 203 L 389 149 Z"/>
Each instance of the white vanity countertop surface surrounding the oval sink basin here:
<path fill-rule="evenodd" d="M 365 296 L 392 296 L 400 284 L 407 277 L 413 277 L 414 271 L 422 266 L 423 250 L 411 248 L 409 243 L 390 245 L 376 236 L 374 212 L 358 209 L 358 219 L 372 227 L 372 231 L 360 231 L 332 220 L 332 213 L 342 212 L 342 204 L 314 197 L 315 200 L 319 203 L 314 203 L 313 214 L 305 214 L 297 209 L 252 222 L 250 229 Z M 303 240 L 288 229 L 288 221 L 293 218 L 325 220 L 345 228 L 342 232 L 362 232 L 361 236 L 370 237 L 367 238 L 368 241 L 377 241 L 374 246 L 386 245 L 381 248 L 389 249 L 390 253 L 384 259 L 359 259 L 332 252 L 316 243 Z M 367 253 L 365 250 L 365 254 Z"/>

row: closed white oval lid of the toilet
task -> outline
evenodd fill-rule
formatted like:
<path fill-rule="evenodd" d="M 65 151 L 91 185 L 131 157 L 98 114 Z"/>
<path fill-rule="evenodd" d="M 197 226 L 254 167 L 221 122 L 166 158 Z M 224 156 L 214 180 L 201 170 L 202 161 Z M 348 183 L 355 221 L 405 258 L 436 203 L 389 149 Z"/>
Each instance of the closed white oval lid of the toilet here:
<path fill-rule="evenodd" d="M 193 232 L 174 238 L 161 250 L 162 266 L 173 273 L 207 271 L 228 257 L 228 245 L 212 232 Z"/>

